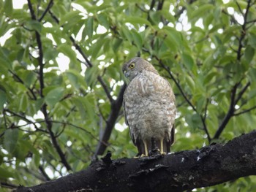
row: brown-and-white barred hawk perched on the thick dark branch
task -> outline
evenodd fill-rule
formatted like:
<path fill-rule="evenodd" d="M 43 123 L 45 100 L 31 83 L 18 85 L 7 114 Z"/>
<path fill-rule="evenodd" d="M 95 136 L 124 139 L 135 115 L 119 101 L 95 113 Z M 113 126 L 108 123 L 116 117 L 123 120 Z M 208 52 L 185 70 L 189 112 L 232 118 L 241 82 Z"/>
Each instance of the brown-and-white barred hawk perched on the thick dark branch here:
<path fill-rule="evenodd" d="M 129 60 L 123 72 L 129 79 L 124 92 L 124 116 L 138 155 L 148 156 L 154 145 L 161 154 L 170 153 L 176 105 L 169 82 L 143 58 Z"/>

